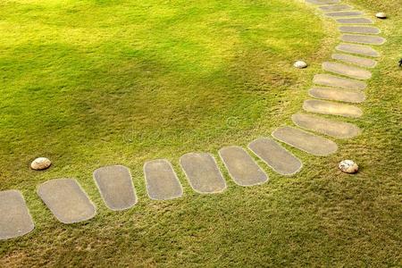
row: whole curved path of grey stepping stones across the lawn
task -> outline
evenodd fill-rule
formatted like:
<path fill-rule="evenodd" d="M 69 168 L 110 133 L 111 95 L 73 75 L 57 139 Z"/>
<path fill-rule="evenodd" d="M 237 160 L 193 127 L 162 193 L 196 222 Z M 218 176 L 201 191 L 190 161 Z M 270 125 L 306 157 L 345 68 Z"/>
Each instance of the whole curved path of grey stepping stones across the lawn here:
<path fill-rule="evenodd" d="M 272 138 L 307 154 L 331 155 L 338 149 L 331 138 L 353 138 L 361 132 L 356 125 L 338 118 L 362 116 L 363 111 L 356 104 L 364 102 L 362 90 L 367 87 L 364 80 L 372 77 L 371 71 L 366 69 L 376 66 L 373 58 L 380 56 L 371 45 L 381 46 L 386 40 L 377 36 L 381 30 L 372 25 L 374 21 L 351 5 L 341 4 L 340 0 L 306 0 L 306 3 L 314 4 L 326 17 L 339 24 L 341 43 L 335 47 L 337 52 L 331 54 L 334 61 L 322 63 L 322 73 L 314 76 L 314 86 L 308 91 L 314 99 L 307 99 L 303 104 L 307 113 L 292 115 L 296 127 L 282 126 L 272 132 Z M 318 114 L 337 117 L 327 119 Z M 272 172 L 286 176 L 299 172 L 303 163 L 272 138 L 255 139 L 248 145 L 249 151 Z M 245 148 L 223 147 L 219 155 L 230 178 L 238 185 L 249 187 L 268 180 L 268 175 Z M 180 157 L 180 166 L 189 185 L 198 193 L 219 193 L 227 187 L 214 155 L 188 153 Z M 151 199 L 167 200 L 182 196 L 180 180 L 168 160 L 148 161 L 144 164 L 144 174 Z M 137 203 L 127 167 L 101 167 L 94 172 L 94 180 L 109 209 L 129 209 Z M 54 217 L 63 223 L 87 221 L 96 215 L 95 205 L 77 180 L 47 180 L 38 186 L 38 196 Z M 33 229 L 34 223 L 21 192 L 0 191 L 0 239 L 17 238 Z"/>

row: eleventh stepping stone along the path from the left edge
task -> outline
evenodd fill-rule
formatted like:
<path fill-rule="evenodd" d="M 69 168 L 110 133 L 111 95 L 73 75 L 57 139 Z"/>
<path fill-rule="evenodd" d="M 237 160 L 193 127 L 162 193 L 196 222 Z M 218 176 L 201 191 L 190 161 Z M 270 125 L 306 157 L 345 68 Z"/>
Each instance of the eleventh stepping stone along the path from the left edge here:
<path fill-rule="evenodd" d="M 359 90 L 348 90 L 339 88 L 311 88 L 308 90 L 310 96 L 316 98 L 335 100 L 347 103 L 363 103 L 365 96 Z"/>

